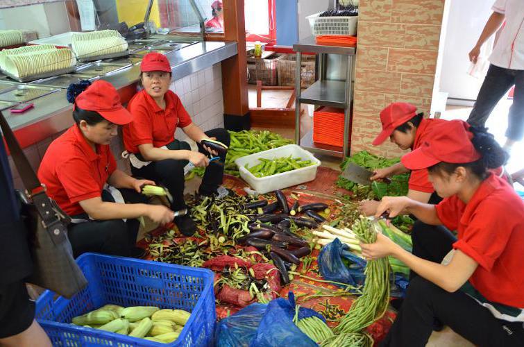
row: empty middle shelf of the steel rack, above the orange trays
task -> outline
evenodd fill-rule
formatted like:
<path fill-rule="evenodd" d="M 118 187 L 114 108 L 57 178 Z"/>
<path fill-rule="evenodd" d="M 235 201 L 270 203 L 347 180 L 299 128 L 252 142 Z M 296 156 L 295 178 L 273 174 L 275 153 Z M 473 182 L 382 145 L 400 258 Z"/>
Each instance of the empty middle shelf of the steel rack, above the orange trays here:
<path fill-rule="evenodd" d="M 346 108 L 345 81 L 316 81 L 301 93 L 301 103 Z"/>

